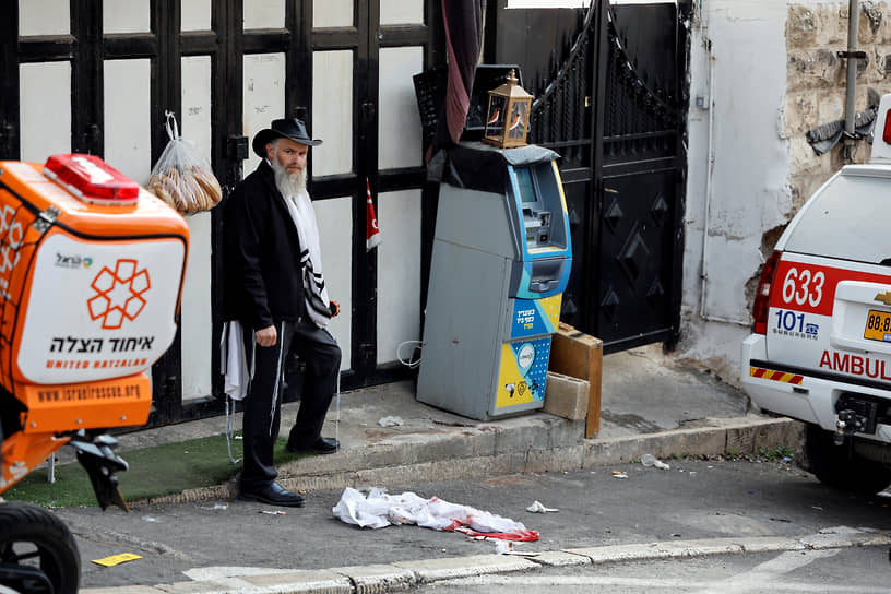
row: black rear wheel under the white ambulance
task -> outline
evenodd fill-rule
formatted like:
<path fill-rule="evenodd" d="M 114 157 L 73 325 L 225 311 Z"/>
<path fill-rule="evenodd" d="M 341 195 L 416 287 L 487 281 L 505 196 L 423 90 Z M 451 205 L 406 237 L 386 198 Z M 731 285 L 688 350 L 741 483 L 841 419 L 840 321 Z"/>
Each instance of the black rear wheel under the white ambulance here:
<path fill-rule="evenodd" d="M 891 470 L 852 451 L 851 443 L 836 445 L 831 431 L 808 425 L 805 455 L 810 472 L 823 485 L 857 495 L 875 495 L 891 485 Z"/>

